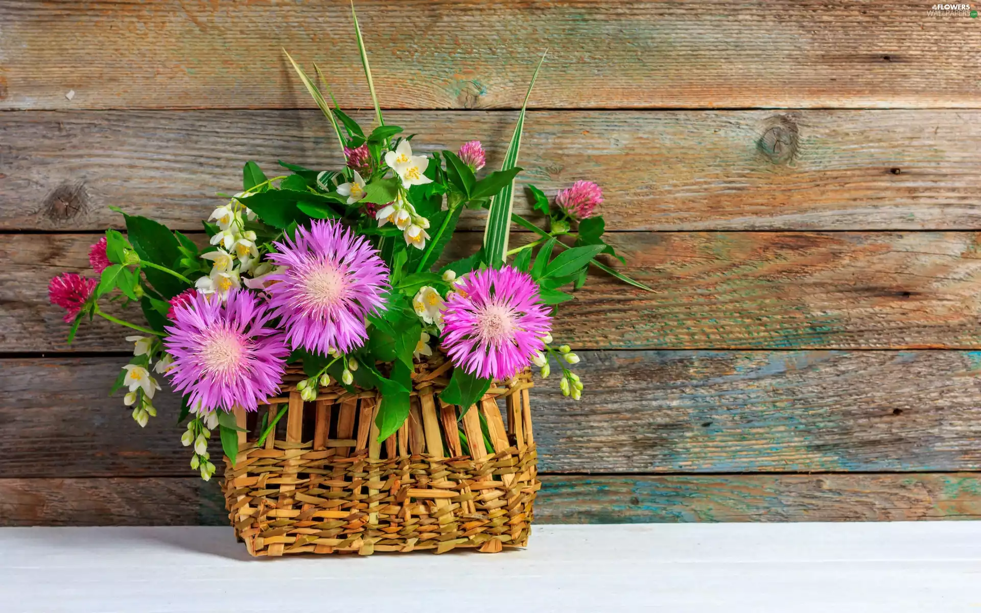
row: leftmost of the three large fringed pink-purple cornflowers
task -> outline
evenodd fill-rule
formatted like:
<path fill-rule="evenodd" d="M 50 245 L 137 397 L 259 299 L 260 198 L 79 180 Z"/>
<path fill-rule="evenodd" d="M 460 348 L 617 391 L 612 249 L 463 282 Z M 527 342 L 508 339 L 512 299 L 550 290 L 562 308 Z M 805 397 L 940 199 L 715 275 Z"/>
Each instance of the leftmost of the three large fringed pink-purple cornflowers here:
<path fill-rule="evenodd" d="M 174 356 L 167 376 L 195 412 L 255 411 L 279 392 L 289 349 L 267 328 L 271 319 L 269 307 L 244 289 L 232 289 L 225 302 L 198 294 L 174 308 L 174 325 L 165 329 Z"/>

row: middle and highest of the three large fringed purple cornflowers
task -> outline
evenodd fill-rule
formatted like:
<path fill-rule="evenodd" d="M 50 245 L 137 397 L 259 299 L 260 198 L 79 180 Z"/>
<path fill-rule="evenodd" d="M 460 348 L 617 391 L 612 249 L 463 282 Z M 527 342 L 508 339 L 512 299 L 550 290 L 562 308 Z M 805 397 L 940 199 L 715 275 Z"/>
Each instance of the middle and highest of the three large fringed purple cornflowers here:
<path fill-rule="evenodd" d="M 273 243 L 267 257 L 288 267 L 271 275 L 269 304 L 293 349 L 346 353 L 368 338 L 365 317 L 385 310 L 388 268 L 363 236 L 334 220 L 314 220 Z"/>

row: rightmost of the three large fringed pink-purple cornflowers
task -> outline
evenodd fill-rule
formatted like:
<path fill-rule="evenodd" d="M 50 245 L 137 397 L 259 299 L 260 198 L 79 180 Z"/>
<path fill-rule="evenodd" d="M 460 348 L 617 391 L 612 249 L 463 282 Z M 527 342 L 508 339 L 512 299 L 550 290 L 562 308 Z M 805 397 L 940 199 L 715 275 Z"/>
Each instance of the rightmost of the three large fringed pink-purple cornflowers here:
<path fill-rule="evenodd" d="M 458 281 L 442 312 L 442 347 L 454 366 L 505 380 L 531 364 L 551 329 L 539 286 L 511 266 L 475 271 Z"/>

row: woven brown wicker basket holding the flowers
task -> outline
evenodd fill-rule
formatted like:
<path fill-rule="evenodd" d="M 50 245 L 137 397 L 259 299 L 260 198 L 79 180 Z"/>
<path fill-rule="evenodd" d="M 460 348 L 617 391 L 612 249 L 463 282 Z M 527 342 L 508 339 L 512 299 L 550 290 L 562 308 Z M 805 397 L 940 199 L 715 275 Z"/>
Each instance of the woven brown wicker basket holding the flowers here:
<path fill-rule="evenodd" d="M 412 406 L 396 434 L 377 442 L 380 397 L 322 387 L 304 402 L 287 370 L 284 390 L 259 414 L 235 414 L 238 457 L 225 458 L 224 492 L 235 536 L 252 555 L 414 551 L 497 552 L 524 546 L 537 477 L 531 374 L 495 383 L 460 419 L 439 400 L 450 369 L 441 355 L 417 366 Z M 507 425 L 497 400 L 504 399 Z M 259 415 L 288 414 L 262 447 Z M 460 436 L 462 431 L 463 436 Z M 472 455 L 467 441 L 490 441 Z M 481 453 L 484 451 L 484 453 Z"/>

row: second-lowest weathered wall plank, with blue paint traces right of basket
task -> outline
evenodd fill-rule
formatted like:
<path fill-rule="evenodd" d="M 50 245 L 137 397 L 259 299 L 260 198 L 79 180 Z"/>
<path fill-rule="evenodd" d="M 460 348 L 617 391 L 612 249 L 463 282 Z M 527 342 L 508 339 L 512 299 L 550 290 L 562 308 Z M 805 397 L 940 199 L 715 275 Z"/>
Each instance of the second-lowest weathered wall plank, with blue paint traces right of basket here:
<path fill-rule="evenodd" d="M 981 469 L 981 354 L 582 352 L 579 402 L 533 391 L 546 473 Z M 140 430 L 107 392 L 126 357 L 0 361 L 6 477 L 194 474 L 177 398 Z M 213 445 L 217 442 L 213 442 Z M 213 453 L 217 447 L 212 449 Z"/>

